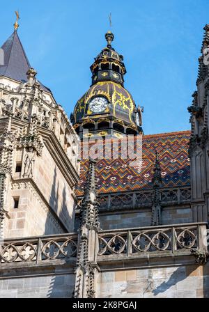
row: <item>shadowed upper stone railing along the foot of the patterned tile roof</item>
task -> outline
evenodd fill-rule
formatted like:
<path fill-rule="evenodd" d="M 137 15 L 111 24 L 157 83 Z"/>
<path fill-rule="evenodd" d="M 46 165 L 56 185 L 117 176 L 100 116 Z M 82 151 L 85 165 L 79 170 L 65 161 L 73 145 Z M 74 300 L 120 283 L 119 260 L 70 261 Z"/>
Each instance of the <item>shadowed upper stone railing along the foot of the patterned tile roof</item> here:
<path fill-rule="evenodd" d="M 163 205 L 175 203 L 187 203 L 191 200 L 190 187 L 178 187 L 161 189 L 161 202 Z M 140 208 L 151 205 L 152 189 L 146 191 L 127 192 L 125 194 L 101 194 L 99 196 L 100 210 L 112 208 Z"/>

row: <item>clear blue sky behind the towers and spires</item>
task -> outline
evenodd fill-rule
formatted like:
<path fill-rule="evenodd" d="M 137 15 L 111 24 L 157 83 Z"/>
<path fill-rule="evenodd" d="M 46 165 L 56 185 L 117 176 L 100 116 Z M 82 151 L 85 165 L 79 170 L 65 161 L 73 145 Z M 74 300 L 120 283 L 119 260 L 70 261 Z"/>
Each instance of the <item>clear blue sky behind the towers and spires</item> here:
<path fill-rule="evenodd" d="M 113 47 L 124 56 L 125 88 L 144 106 L 145 134 L 189 130 L 208 0 L 0 3 L 0 42 L 13 32 L 19 9 L 18 33 L 29 61 L 68 115 L 91 84 L 89 66 L 106 45 L 111 12 Z"/>

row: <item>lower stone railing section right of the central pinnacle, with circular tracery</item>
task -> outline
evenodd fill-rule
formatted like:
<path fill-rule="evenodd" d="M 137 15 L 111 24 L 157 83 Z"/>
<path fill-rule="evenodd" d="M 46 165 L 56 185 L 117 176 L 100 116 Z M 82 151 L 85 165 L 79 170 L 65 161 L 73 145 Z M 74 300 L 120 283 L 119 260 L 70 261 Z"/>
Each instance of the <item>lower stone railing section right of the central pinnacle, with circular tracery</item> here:
<path fill-rule="evenodd" d="M 153 226 L 149 228 L 120 229 L 99 233 L 98 258 L 112 255 L 145 255 L 153 251 L 207 249 L 206 223 Z"/>

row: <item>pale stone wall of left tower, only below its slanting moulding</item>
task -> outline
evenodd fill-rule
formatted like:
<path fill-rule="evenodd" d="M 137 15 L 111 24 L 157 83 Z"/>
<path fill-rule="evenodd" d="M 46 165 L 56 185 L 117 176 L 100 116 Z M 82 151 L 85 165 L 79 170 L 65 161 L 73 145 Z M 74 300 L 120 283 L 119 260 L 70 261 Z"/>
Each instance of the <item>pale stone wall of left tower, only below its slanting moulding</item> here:
<path fill-rule="evenodd" d="M 5 237 L 28 237 L 63 233 L 64 229 L 33 184 L 13 182 L 12 197 L 20 198 L 18 208 L 10 205 L 5 219 Z"/>

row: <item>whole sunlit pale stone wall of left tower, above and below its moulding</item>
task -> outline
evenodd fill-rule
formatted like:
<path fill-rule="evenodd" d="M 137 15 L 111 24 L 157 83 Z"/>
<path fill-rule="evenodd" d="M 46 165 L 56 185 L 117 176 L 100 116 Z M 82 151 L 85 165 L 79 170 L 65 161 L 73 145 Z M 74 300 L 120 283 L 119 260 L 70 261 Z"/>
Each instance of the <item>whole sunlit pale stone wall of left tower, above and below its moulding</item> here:
<path fill-rule="evenodd" d="M 24 150 L 15 150 L 14 158 L 12 190 L 6 207 L 8 215 L 5 219 L 4 237 L 72 232 L 74 226 L 72 190 L 46 146 L 42 150 L 41 157 L 36 155 L 31 178 L 24 178 L 23 169 L 22 172 L 15 172 L 17 164 L 24 166 Z M 19 201 L 17 208 L 14 208 L 14 199 Z"/>

